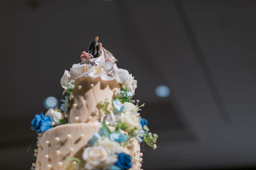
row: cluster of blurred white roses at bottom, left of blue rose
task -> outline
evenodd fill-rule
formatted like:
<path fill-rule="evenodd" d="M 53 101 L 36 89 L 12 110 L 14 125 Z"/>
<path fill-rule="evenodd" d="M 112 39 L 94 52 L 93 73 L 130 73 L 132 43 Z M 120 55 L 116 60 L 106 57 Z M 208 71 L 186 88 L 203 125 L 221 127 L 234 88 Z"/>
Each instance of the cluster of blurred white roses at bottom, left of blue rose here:
<path fill-rule="evenodd" d="M 86 162 L 84 169 L 109 169 L 117 161 L 115 153 L 120 152 L 122 150 L 119 143 L 111 141 L 109 138 L 100 138 L 94 146 L 85 148 L 83 152 L 83 159 Z"/>

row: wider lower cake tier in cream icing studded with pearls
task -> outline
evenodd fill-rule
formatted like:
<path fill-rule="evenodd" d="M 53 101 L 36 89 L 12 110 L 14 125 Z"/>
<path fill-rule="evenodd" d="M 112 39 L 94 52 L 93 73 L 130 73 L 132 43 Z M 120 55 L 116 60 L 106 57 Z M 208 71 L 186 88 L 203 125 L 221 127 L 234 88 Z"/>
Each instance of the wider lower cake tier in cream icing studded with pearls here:
<path fill-rule="evenodd" d="M 65 124 L 46 131 L 39 139 L 36 169 L 68 169 L 68 159 L 76 157 L 83 160 L 84 148 L 100 127 L 100 123 Z M 142 153 L 138 141 L 134 139 L 132 145 L 122 147 L 122 150 L 134 157 L 131 169 L 140 169 L 138 160 L 141 160 Z"/>

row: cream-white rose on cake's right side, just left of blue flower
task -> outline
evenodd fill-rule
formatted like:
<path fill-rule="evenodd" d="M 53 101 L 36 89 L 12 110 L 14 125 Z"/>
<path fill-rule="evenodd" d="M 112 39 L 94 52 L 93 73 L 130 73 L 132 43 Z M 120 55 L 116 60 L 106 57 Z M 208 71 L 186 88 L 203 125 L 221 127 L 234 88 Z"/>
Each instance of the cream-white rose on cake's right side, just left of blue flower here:
<path fill-rule="evenodd" d="M 134 111 L 127 111 L 127 113 L 120 113 L 121 121 L 127 125 L 127 131 L 131 131 L 134 127 L 140 129 L 140 116 Z"/>

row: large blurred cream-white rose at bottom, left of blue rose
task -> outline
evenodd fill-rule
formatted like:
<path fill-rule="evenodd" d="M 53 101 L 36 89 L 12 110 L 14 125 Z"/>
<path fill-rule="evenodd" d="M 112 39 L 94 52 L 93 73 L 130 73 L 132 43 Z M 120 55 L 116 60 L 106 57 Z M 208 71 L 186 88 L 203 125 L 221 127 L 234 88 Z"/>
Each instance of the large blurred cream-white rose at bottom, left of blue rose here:
<path fill-rule="evenodd" d="M 86 161 L 84 169 L 104 169 L 117 161 L 117 155 L 110 155 L 104 146 L 91 146 L 84 150 L 83 159 Z"/>

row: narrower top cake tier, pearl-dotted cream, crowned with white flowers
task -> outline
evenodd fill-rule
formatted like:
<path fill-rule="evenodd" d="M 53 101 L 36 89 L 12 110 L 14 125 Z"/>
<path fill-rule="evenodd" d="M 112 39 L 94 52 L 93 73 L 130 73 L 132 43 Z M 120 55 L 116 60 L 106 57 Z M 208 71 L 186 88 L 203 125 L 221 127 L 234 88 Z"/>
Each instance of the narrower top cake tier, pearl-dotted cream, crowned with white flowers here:
<path fill-rule="evenodd" d="M 116 66 L 115 61 L 97 57 L 74 64 L 61 78 L 63 93 L 68 92 L 63 109 L 67 112 L 68 123 L 102 122 L 104 110 L 100 106 L 112 103 L 120 90 L 129 91 L 132 97 L 136 83 L 127 70 Z"/>

